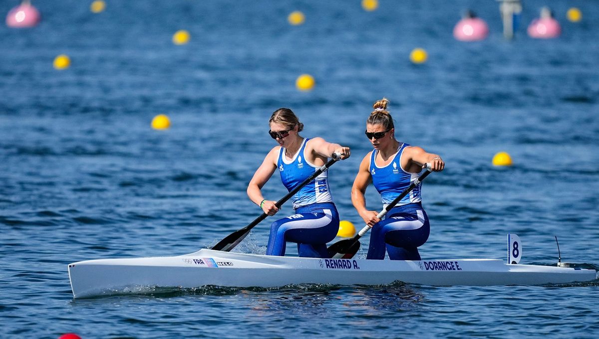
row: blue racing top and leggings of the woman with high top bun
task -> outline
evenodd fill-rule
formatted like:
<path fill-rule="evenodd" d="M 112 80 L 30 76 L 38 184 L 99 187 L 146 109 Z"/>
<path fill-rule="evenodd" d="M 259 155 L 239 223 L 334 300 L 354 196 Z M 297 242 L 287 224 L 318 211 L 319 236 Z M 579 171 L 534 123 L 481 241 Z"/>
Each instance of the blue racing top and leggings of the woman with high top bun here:
<path fill-rule="evenodd" d="M 418 173 L 406 172 L 401 167 L 401 155 L 409 146 L 402 143 L 391 162 L 383 167 L 377 166 L 374 161 L 377 151 L 371 154 L 370 175 L 385 206 L 418 178 Z M 416 186 L 389 210 L 385 219 L 373 226 L 367 259 L 385 259 L 386 250 L 392 260 L 420 260 L 418 246 L 428 240 L 430 232 L 428 216 L 422 209 L 421 186 Z"/>

